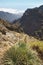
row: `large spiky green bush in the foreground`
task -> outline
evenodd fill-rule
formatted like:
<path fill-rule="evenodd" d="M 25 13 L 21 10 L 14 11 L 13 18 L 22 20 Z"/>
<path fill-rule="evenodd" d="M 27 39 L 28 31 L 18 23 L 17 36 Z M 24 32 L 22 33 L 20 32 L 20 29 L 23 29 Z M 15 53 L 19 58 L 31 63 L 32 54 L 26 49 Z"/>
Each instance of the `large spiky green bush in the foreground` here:
<path fill-rule="evenodd" d="M 25 43 L 18 43 L 4 54 L 4 65 L 42 65 L 37 53 Z"/>

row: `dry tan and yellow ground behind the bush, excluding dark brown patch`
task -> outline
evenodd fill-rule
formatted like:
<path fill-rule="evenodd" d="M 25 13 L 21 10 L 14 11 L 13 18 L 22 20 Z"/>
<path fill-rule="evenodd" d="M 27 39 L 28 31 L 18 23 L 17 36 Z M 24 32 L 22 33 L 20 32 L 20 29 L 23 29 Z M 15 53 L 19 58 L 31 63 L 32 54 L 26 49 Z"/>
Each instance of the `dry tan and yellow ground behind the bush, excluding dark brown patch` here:
<path fill-rule="evenodd" d="M 0 33 L 0 65 L 2 65 L 1 59 L 3 58 L 4 53 L 14 44 L 20 42 L 26 43 L 30 48 L 38 46 L 40 51 L 43 52 L 43 41 L 39 41 L 34 37 L 28 36 L 24 33 L 17 33 L 12 31 L 8 32 L 6 35 Z"/>

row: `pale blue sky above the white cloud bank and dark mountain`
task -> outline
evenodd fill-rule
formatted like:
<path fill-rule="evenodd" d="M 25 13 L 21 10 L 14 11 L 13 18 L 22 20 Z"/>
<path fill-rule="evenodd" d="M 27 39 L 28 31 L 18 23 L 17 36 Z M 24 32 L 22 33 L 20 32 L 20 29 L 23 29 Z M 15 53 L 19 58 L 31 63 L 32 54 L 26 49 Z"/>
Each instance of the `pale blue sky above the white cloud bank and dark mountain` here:
<path fill-rule="evenodd" d="M 0 8 L 26 10 L 43 5 L 43 0 L 0 0 Z"/>

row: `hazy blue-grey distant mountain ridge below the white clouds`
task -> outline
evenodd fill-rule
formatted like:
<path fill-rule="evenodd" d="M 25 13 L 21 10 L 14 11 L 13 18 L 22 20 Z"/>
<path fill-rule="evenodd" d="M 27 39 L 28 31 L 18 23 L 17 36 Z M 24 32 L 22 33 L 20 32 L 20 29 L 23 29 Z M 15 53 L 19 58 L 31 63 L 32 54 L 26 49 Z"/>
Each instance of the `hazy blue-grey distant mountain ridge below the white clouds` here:
<path fill-rule="evenodd" d="M 12 14 L 4 11 L 0 11 L 0 18 L 3 20 L 7 20 L 9 22 L 13 22 L 14 20 L 20 18 L 22 15 L 20 14 Z"/>

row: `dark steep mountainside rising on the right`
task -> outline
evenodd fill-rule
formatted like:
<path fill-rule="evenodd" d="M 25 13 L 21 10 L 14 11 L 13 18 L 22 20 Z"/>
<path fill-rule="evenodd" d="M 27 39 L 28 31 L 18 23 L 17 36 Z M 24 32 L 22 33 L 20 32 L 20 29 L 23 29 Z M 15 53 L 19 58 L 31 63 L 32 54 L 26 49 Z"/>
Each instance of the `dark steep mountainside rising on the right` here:
<path fill-rule="evenodd" d="M 43 39 L 43 6 L 27 9 L 20 23 L 25 33 Z"/>

